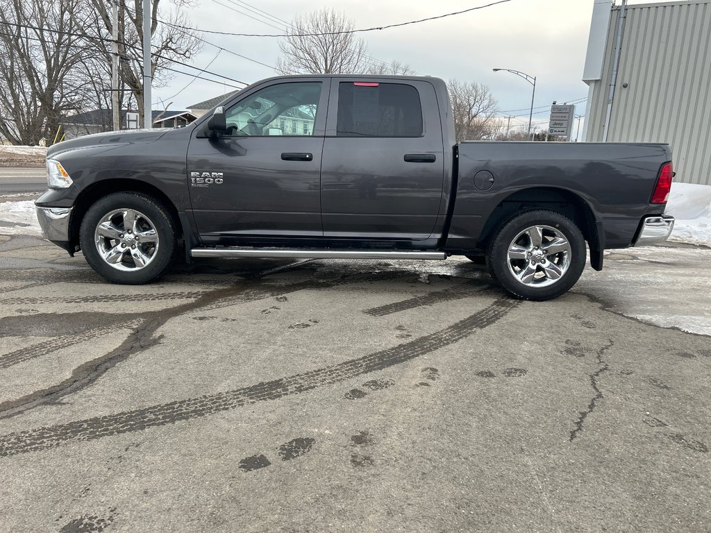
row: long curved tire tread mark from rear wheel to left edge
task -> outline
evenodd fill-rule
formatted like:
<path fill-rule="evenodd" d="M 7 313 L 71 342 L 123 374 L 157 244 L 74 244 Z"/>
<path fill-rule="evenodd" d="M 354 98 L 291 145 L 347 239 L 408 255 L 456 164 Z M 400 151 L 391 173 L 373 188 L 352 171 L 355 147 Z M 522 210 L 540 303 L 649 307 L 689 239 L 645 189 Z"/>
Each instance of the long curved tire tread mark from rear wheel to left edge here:
<path fill-rule="evenodd" d="M 213 296 L 213 298 L 215 297 Z M 437 330 L 429 335 L 423 335 L 408 343 L 371 352 L 368 355 L 356 357 L 336 365 L 329 365 L 269 382 L 260 382 L 250 387 L 205 394 L 197 398 L 177 400 L 167 404 L 123 411 L 107 416 L 95 416 L 66 424 L 55 424 L 1 435 L 0 457 L 55 448 L 70 441 L 90 441 L 110 435 L 143 431 L 149 427 L 175 424 L 178 421 L 237 409 L 237 407 L 247 404 L 266 402 L 293 394 L 309 392 L 319 387 L 343 382 L 370 372 L 384 370 L 469 337 L 477 330 L 483 330 L 496 323 L 518 305 L 518 301 L 496 300 L 486 308 L 453 325 L 447 326 L 447 328 Z M 156 322 L 158 322 L 157 319 Z M 151 331 L 149 339 L 153 331 Z"/>

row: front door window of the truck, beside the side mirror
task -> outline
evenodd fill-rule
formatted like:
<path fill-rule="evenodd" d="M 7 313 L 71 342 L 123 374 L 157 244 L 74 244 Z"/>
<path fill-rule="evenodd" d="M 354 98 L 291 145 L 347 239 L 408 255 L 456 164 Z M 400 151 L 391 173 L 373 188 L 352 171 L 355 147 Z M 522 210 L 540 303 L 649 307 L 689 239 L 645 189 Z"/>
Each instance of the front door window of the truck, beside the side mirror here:
<path fill-rule="evenodd" d="M 321 97 L 321 82 L 269 85 L 237 102 L 225 113 L 234 136 L 312 135 Z M 306 126 L 296 129 L 296 120 Z"/>

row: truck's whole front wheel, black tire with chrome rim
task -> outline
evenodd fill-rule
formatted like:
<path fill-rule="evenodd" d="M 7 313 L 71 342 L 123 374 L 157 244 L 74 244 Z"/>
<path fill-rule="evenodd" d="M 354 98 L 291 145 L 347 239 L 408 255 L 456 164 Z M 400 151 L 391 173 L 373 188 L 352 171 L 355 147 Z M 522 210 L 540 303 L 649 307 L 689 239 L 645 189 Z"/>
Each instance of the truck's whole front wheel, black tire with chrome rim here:
<path fill-rule="evenodd" d="M 97 274 L 125 285 L 163 274 L 178 249 L 166 209 L 148 195 L 113 193 L 87 210 L 79 231 L 82 252 Z"/>

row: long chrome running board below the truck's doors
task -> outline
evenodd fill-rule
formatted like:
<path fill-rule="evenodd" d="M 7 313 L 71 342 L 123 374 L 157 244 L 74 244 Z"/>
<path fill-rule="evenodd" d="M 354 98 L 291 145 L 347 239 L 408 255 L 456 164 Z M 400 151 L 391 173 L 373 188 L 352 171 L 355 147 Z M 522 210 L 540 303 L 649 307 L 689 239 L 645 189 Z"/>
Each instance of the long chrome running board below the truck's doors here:
<path fill-rule="evenodd" d="M 324 250 L 276 248 L 193 248 L 192 257 L 262 257 L 293 259 L 447 259 L 446 252 L 390 252 L 388 250 Z"/>

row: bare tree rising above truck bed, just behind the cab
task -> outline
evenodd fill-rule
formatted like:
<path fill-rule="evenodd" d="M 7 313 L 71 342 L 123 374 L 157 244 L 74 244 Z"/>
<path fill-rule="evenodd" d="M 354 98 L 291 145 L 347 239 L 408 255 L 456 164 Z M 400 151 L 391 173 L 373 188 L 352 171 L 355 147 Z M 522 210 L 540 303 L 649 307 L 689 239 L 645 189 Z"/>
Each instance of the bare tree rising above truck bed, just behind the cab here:
<path fill-rule="evenodd" d="M 447 89 L 454 110 L 456 141 L 496 139 L 500 126 L 495 116 L 498 104 L 488 87 L 476 82 L 449 80 Z"/>

